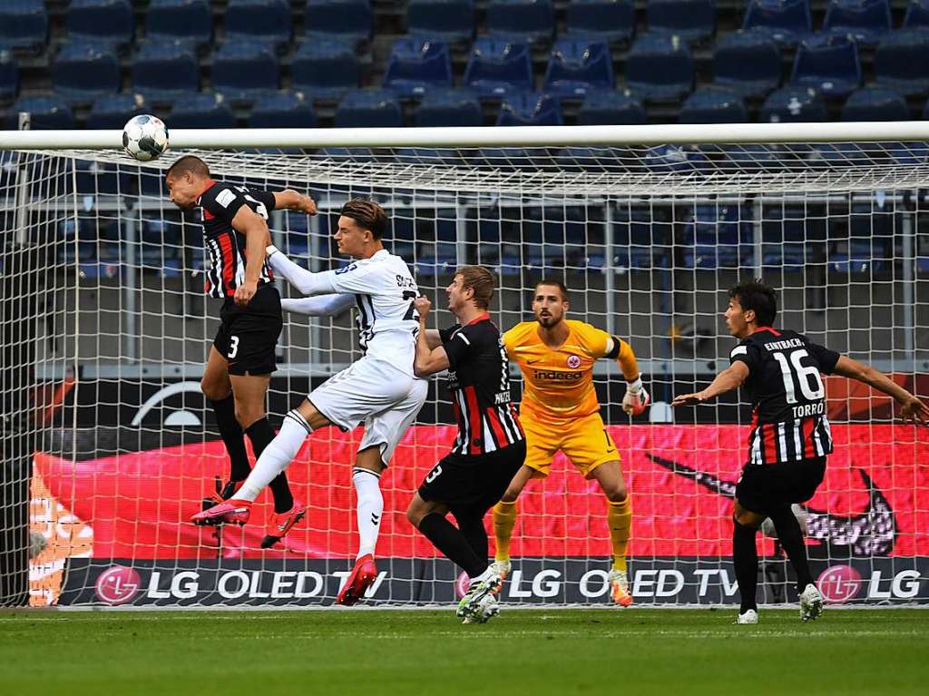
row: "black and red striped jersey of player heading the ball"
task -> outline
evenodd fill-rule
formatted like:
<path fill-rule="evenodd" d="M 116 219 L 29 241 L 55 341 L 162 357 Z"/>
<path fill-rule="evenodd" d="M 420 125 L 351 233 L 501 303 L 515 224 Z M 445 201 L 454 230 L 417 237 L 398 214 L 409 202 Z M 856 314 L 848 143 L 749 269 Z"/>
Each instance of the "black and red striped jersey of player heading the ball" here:
<path fill-rule="evenodd" d="M 203 243 L 206 245 L 205 292 L 211 297 L 231 297 L 245 280 L 245 235 L 232 227 L 232 218 L 242 205 L 268 219 L 274 210 L 274 194 L 266 190 L 213 181 L 197 199 L 203 214 Z M 258 286 L 274 280 L 266 261 Z"/>

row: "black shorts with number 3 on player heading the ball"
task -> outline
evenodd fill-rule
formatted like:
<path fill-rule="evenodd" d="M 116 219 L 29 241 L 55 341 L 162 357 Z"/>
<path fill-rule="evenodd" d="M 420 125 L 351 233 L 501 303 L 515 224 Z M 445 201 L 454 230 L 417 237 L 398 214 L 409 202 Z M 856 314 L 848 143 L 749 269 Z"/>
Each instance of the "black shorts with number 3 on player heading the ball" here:
<path fill-rule="evenodd" d="M 275 351 L 283 320 L 276 287 L 259 286 L 244 306 L 227 297 L 219 318 L 213 345 L 229 361 L 229 374 L 271 374 L 278 369 Z"/>

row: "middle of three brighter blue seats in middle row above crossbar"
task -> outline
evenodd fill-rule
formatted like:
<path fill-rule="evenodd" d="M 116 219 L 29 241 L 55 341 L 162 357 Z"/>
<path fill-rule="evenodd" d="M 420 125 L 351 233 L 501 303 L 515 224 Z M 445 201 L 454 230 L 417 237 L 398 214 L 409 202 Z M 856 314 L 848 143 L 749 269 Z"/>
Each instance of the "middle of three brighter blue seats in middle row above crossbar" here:
<path fill-rule="evenodd" d="M 481 97 L 501 97 L 510 91 L 531 90 L 529 46 L 478 38 L 464 69 L 464 86 Z"/>

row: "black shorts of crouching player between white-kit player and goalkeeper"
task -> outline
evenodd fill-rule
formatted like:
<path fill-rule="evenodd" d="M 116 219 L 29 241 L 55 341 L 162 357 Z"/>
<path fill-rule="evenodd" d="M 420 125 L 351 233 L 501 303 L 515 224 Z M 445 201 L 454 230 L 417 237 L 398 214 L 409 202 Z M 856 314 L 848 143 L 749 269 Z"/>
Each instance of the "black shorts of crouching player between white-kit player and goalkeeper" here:
<path fill-rule="evenodd" d="M 419 487 L 423 500 L 456 508 L 491 509 L 526 461 L 526 440 L 488 454 L 448 454 L 426 474 Z"/>

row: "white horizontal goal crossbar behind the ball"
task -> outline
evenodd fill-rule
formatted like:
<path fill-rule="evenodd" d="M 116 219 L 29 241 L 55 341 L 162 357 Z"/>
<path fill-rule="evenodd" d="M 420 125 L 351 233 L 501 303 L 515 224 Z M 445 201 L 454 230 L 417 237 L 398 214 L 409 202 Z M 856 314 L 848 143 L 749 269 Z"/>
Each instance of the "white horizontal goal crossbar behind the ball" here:
<path fill-rule="evenodd" d="M 170 126 L 170 124 L 168 124 Z M 171 130 L 175 150 L 331 147 L 553 147 L 929 139 L 927 121 L 817 124 L 518 125 L 466 128 L 229 128 Z M 106 150 L 122 131 L 0 131 L 0 150 Z"/>

